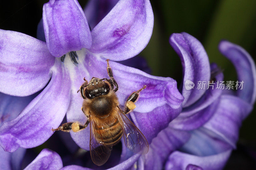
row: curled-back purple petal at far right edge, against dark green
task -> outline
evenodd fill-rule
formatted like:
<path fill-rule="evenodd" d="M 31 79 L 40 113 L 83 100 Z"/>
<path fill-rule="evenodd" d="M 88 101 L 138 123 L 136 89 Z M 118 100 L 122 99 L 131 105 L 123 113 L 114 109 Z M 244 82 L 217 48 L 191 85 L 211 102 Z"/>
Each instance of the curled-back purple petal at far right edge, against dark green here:
<path fill-rule="evenodd" d="M 253 104 L 256 98 L 256 69 L 252 57 L 244 48 L 228 41 L 221 41 L 219 50 L 234 64 L 238 81 L 244 81 L 243 89 L 237 90 L 237 96 Z"/>

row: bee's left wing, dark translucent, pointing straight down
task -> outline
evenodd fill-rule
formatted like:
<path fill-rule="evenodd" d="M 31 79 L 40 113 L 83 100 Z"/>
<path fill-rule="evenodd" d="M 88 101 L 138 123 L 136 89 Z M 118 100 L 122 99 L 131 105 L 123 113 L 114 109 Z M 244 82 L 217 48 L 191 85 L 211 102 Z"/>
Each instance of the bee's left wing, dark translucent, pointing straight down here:
<path fill-rule="evenodd" d="M 105 164 L 112 151 L 112 146 L 107 146 L 104 139 L 99 141 L 95 138 L 95 133 L 102 135 L 97 131 L 98 127 L 90 116 L 90 154 L 94 164 L 101 166 Z"/>

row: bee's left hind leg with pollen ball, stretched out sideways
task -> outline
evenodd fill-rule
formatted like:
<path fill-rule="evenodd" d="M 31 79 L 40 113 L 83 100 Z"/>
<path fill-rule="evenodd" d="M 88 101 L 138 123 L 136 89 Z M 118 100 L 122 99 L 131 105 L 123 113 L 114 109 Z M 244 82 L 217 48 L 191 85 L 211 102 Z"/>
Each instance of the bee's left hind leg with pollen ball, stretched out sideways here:
<path fill-rule="evenodd" d="M 54 132 L 56 130 L 61 130 L 63 132 L 70 132 L 70 130 L 72 130 L 73 132 L 77 132 L 79 130 L 85 129 L 89 123 L 90 123 L 90 119 L 87 119 L 87 121 L 85 122 L 84 125 L 82 125 L 81 123 L 77 123 L 77 122 L 67 122 L 67 123 L 62 124 L 57 129 L 52 129 L 52 131 Z"/>

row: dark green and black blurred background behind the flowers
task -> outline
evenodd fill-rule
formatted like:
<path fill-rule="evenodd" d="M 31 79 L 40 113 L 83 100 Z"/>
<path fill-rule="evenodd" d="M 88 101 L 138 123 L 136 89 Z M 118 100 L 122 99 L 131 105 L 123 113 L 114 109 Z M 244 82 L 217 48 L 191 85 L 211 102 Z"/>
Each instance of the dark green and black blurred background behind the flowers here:
<path fill-rule="evenodd" d="M 87 0 L 78 0 L 82 7 Z M 11 0 L 0 5 L 0 29 L 36 37 L 43 4 L 48 0 Z M 180 84 L 182 70 L 178 55 L 169 45 L 172 33 L 187 32 L 202 42 L 210 58 L 223 70 L 225 80 L 236 81 L 232 64 L 218 51 L 221 39 L 227 39 L 256 57 L 255 0 L 151 0 L 155 23 L 152 38 L 141 52 L 156 76 L 172 77 Z M 256 108 L 256 107 L 255 107 Z M 225 169 L 255 169 L 256 109 L 243 122 L 237 150 Z"/>

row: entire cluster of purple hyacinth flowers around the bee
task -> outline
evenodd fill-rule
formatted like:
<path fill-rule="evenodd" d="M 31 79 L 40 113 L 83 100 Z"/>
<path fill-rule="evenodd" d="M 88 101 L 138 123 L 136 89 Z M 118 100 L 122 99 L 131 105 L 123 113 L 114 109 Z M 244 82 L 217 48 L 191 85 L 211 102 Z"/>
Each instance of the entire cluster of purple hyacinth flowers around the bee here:
<path fill-rule="evenodd" d="M 223 73 L 209 63 L 196 38 L 174 33 L 169 41 L 183 67 L 178 90 L 172 78 L 146 73 L 140 58 L 127 60 L 146 47 L 153 23 L 149 0 L 91 0 L 84 11 L 77 0 L 50 0 L 38 25 L 39 40 L 0 30 L 0 153 L 4 155 L 0 168 L 20 169 L 24 148 L 47 141 L 65 115 L 68 122 L 86 122 L 77 90 L 84 77 L 108 78 L 106 59 L 119 86 L 121 105 L 147 85 L 129 115 L 148 140 L 149 152 L 134 154 L 122 141 L 120 160 L 111 169 L 223 168 L 255 102 L 255 64 L 243 48 L 221 41 L 219 50 L 234 64 L 243 89 L 186 90 L 187 80 L 222 81 Z M 79 147 L 90 150 L 89 127 L 70 135 Z M 63 167 L 58 153 L 43 149 L 26 169 L 90 167 Z"/>

